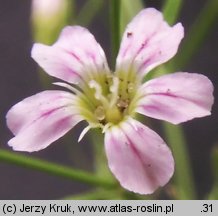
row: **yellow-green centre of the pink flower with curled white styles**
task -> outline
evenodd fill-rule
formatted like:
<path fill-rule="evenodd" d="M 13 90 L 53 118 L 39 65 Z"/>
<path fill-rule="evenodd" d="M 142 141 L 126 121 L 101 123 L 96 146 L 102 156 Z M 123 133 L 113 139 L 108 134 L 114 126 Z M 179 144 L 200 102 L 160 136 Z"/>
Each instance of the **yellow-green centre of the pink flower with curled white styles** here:
<path fill-rule="evenodd" d="M 87 83 L 81 87 L 83 94 L 77 95 L 81 114 L 91 127 L 105 130 L 134 114 L 133 99 L 138 87 L 135 76 L 131 78 L 121 72 L 105 74 Z"/>

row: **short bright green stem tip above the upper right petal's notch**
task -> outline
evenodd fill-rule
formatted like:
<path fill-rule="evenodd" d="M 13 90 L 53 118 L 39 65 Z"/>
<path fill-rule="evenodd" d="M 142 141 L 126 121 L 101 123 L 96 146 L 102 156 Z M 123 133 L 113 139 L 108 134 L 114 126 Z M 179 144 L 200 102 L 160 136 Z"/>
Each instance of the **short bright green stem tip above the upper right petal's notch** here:
<path fill-rule="evenodd" d="M 176 21 L 182 8 L 182 4 L 182 0 L 165 0 L 162 11 L 165 20 L 169 24 L 174 24 L 174 22 Z"/>

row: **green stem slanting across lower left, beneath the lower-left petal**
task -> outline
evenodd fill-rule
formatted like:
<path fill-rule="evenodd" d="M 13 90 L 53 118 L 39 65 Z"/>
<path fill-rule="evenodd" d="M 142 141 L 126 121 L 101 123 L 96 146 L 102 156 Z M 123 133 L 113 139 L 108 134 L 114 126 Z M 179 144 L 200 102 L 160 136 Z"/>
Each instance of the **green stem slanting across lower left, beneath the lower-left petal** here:
<path fill-rule="evenodd" d="M 83 182 L 89 185 L 101 186 L 104 188 L 114 188 L 116 183 L 99 178 L 91 173 L 72 169 L 67 166 L 47 162 L 38 158 L 24 156 L 6 150 L 0 150 L 0 162 L 14 164 L 21 167 L 38 170 L 51 175 L 60 176 L 74 181 Z"/>

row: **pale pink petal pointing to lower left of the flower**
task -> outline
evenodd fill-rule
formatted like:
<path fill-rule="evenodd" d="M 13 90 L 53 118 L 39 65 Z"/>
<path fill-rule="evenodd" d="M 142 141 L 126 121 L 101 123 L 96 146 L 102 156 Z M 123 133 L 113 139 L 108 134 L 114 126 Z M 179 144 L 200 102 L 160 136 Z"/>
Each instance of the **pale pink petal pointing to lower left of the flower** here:
<path fill-rule="evenodd" d="M 15 137 L 9 146 L 17 151 L 38 151 L 62 137 L 82 120 L 75 96 L 64 91 L 44 91 L 14 105 L 7 125 Z"/>

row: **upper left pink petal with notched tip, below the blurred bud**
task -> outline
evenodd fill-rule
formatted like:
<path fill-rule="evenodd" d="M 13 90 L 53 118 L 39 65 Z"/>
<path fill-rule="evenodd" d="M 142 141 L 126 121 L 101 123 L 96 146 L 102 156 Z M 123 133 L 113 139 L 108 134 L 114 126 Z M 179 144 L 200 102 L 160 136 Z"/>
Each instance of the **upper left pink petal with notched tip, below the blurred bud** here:
<path fill-rule="evenodd" d="M 80 26 L 65 27 L 52 46 L 34 44 L 32 58 L 51 76 L 78 84 L 92 73 L 108 72 L 104 51 Z"/>

